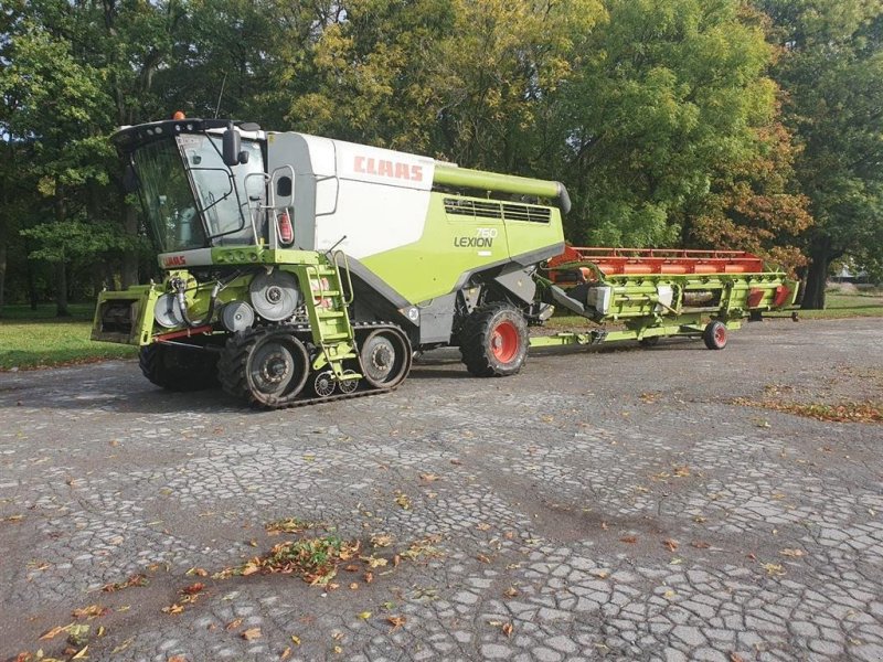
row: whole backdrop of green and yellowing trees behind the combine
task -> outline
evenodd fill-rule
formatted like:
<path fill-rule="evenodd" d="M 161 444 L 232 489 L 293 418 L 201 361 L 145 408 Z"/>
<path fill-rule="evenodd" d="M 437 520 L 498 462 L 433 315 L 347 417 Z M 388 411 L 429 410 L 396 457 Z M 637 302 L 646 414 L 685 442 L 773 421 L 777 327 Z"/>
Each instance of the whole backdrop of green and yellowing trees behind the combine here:
<path fill-rule="evenodd" d="M 17 297 L 138 279 L 108 137 L 177 109 L 561 179 L 576 243 L 872 267 L 880 39 L 876 0 L 11 0 L 0 302 L 4 253 Z"/>

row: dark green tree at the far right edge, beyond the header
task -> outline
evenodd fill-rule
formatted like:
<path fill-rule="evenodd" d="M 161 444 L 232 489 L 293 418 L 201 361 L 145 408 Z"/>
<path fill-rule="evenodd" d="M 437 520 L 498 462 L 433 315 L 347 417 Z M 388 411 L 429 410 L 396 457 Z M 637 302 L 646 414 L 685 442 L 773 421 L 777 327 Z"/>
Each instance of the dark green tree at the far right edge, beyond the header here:
<path fill-rule="evenodd" d="M 883 3 L 763 0 L 781 55 L 774 74 L 788 95 L 785 121 L 816 225 L 805 307 L 825 305 L 832 260 L 859 268 L 883 255 Z"/>

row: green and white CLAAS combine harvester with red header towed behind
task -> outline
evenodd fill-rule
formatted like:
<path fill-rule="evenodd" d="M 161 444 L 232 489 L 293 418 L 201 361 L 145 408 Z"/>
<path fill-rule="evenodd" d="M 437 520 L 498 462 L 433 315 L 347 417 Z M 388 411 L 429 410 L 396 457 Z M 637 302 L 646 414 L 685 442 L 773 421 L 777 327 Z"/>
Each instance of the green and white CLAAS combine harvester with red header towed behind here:
<path fill-rule="evenodd" d="M 446 345 L 477 376 L 517 373 L 529 346 L 722 349 L 796 292 L 744 253 L 567 247 L 558 182 L 226 120 L 114 140 L 164 278 L 103 292 L 93 339 L 138 345 L 169 389 L 275 408 L 389 391 Z M 530 338 L 553 307 L 596 327 Z"/>

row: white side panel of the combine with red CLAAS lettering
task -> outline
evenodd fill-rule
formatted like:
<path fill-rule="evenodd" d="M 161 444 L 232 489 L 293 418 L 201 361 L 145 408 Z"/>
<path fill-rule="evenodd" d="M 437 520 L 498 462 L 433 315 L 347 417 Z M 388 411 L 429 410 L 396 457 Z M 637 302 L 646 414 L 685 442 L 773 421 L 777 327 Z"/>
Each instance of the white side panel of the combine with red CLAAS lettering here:
<path fill-rule="evenodd" d="M 294 169 L 299 248 L 337 245 L 363 258 L 423 235 L 433 159 L 302 134 L 269 134 L 267 161 L 274 177 Z"/>

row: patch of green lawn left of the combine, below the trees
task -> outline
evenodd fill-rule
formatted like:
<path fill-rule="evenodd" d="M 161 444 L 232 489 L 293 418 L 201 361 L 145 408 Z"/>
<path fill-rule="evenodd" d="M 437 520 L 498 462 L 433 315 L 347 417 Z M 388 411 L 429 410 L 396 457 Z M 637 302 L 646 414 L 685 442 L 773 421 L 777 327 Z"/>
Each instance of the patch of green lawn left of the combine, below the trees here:
<path fill-rule="evenodd" d="M 30 370 L 88 363 L 104 359 L 131 359 L 136 348 L 93 342 L 92 303 L 71 306 L 71 317 L 57 319 L 55 307 L 7 306 L 0 318 L 0 371 Z"/>

